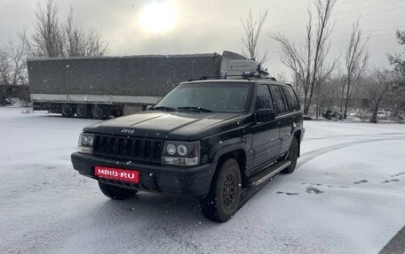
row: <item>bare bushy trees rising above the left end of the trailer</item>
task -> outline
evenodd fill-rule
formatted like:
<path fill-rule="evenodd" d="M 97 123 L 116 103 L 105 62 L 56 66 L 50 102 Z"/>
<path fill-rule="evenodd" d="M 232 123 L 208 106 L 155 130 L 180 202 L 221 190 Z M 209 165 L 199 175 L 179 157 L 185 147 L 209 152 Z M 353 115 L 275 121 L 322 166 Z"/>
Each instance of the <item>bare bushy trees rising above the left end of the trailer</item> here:
<path fill-rule="evenodd" d="M 19 34 L 28 57 L 103 56 L 107 53 L 107 42 L 96 31 L 85 31 L 75 22 L 72 8 L 65 24 L 60 22 L 53 0 L 48 0 L 45 7 L 38 3 L 35 13 L 34 34 L 27 35 L 25 29 Z"/>

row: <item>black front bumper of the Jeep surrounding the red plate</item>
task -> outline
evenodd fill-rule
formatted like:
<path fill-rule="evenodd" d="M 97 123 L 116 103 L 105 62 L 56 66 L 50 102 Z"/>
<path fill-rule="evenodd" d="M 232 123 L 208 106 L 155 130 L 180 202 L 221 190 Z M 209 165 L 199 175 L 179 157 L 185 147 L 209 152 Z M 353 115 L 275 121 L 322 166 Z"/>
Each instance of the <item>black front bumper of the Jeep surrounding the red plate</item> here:
<path fill-rule="evenodd" d="M 92 179 L 128 189 L 140 189 L 176 196 L 200 197 L 210 190 L 215 164 L 194 167 L 135 164 L 114 158 L 102 158 L 75 152 L 71 155 L 73 167 Z M 119 167 L 139 172 L 139 183 L 107 180 L 94 174 L 94 166 Z"/>

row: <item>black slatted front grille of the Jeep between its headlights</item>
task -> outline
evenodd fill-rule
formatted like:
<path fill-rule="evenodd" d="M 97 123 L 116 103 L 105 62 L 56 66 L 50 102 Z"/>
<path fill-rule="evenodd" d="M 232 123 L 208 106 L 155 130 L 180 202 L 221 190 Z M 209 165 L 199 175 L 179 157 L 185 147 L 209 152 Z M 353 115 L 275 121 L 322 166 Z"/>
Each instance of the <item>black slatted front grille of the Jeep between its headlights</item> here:
<path fill-rule="evenodd" d="M 94 135 L 93 154 L 131 161 L 160 163 L 163 140 L 117 135 Z"/>

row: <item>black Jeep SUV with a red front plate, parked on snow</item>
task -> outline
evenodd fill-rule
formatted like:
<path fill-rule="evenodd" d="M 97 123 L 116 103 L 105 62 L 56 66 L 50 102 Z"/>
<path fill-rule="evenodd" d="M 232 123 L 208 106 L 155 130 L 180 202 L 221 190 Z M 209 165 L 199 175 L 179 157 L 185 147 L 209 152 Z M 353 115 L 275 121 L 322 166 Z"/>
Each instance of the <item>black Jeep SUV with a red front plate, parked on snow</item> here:
<path fill-rule="evenodd" d="M 71 158 L 110 198 L 139 190 L 191 196 L 208 219 L 226 221 L 243 189 L 294 171 L 302 119 L 290 85 L 188 81 L 146 112 L 85 127 Z"/>

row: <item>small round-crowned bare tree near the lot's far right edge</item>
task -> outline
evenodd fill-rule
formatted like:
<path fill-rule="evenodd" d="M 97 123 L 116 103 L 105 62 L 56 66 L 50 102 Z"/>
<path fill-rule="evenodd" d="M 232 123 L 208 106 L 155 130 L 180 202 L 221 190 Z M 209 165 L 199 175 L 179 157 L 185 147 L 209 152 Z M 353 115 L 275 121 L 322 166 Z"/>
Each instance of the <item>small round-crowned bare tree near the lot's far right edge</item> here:
<path fill-rule="evenodd" d="M 366 104 L 372 112 L 372 122 L 377 123 L 378 108 L 396 82 L 395 75 L 387 70 L 374 69 L 367 77 L 363 86 L 363 96 L 365 96 Z"/>

